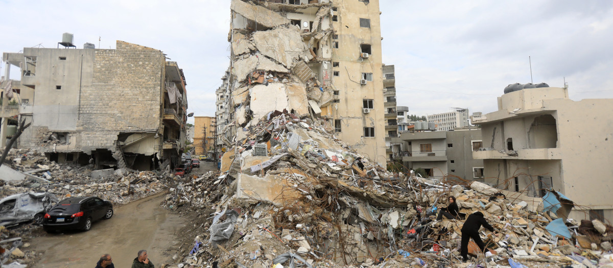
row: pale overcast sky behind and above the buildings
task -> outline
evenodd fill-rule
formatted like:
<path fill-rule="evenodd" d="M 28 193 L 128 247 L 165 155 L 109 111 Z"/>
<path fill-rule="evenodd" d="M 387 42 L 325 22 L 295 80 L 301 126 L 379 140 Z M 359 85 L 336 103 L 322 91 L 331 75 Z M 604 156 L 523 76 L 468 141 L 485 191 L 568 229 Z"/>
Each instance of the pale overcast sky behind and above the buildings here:
<path fill-rule="evenodd" d="M 229 3 L 0 0 L 0 51 L 56 48 L 64 32 L 78 48 L 156 48 L 185 72 L 189 111 L 213 116 Z M 507 84 L 530 82 L 528 56 L 534 83 L 566 78 L 573 100 L 613 98 L 613 1 L 381 0 L 380 10 L 383 62 L 395 65 L 398 105 L 411 114 L 495 111 Z"/>

